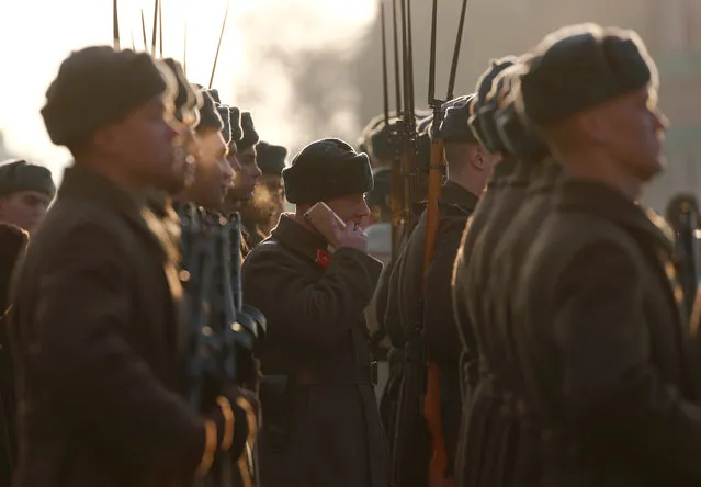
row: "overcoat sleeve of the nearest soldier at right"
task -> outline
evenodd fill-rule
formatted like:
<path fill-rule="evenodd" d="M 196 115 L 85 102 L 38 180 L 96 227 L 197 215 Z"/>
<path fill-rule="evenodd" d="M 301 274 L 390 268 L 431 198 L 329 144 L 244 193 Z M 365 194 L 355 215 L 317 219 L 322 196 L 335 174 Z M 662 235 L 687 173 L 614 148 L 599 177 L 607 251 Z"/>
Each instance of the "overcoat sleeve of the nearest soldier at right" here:
<path fill-rule="evenodd" d="M 553 336 L 566 423 L 580 438 L 620 445 L 699 482 L 701 408 L 651 364 L 642 279 L 613 242 L 590 244 L 559 275 Z M 677 325 L 659 326 L 674 332 Z"/>

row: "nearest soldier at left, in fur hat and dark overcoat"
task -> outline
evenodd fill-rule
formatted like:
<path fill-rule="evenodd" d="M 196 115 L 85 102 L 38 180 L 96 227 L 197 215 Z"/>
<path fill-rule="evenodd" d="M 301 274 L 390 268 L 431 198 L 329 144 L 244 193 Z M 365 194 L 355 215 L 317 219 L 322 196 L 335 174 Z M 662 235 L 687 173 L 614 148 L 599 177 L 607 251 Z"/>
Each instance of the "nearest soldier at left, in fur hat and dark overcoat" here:
<path fill-rule="evenodd" d="M 185 486 L 246 441 L 237 389 L 207 415 L 180 396 L 177 237 L 146 205 L 184 157 L 165 76 L 146 54 L 88 47 L 47 91 L 47 132 L 76 162 L 16 285 L 18 486 Z"/>

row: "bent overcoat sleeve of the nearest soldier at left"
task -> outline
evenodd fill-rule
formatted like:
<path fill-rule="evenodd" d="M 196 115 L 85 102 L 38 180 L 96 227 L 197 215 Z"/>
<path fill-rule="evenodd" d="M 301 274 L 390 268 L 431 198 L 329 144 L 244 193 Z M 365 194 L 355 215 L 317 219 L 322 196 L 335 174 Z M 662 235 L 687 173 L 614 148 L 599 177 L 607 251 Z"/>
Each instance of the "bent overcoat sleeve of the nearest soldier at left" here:
<path fill-rule="evenodd" d="M 29 366 L 47 377 L 67 420 L 95 441 L 147 465 L 194 472 L 205 450 L 203 419 L 125 340 L 128 329 L 149 324 L 129 322 L 133 286 L 115 241 L 109 230 L 86 224 L 54 249 L 38 278 Z"/>

